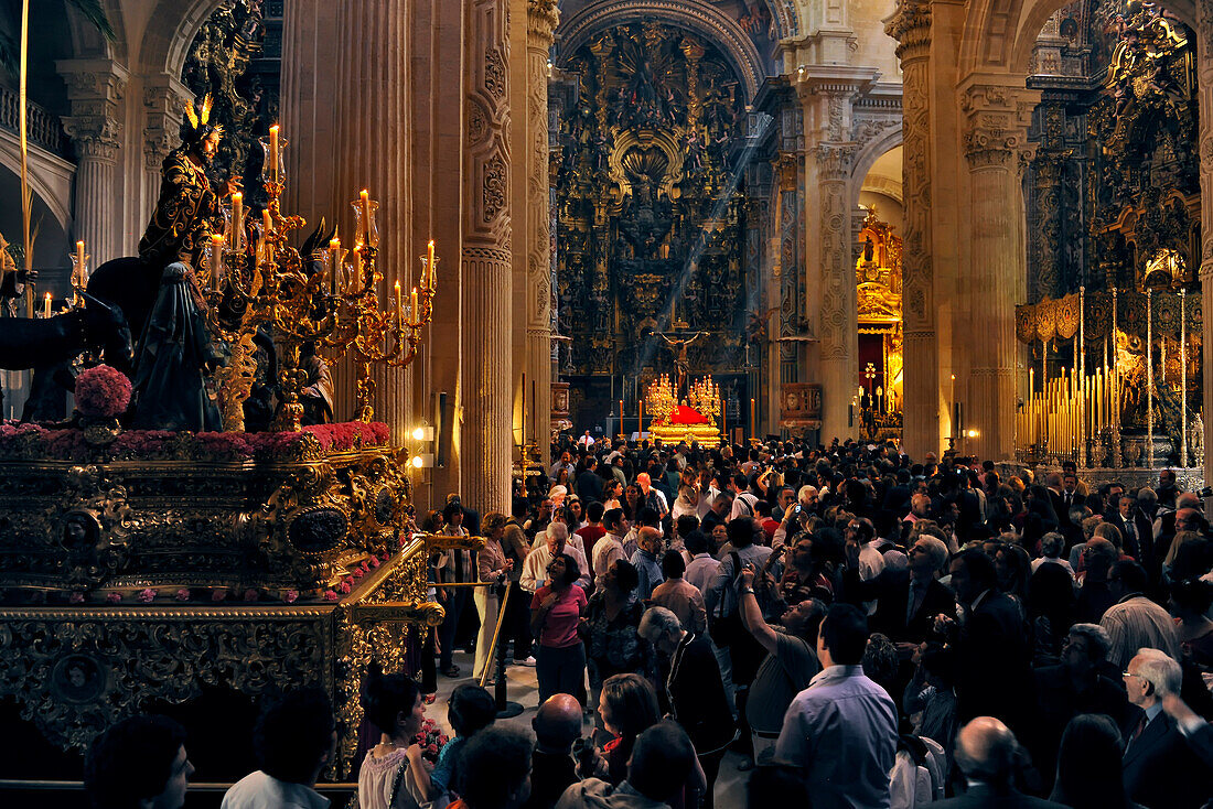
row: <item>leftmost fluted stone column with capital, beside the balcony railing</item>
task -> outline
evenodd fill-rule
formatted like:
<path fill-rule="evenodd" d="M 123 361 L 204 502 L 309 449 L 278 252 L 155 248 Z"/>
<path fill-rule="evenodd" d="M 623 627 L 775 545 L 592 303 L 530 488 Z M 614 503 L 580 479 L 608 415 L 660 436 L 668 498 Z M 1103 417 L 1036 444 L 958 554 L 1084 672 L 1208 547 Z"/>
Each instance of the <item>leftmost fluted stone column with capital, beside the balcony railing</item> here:
<path fill-rule="evenodd" d="M 113 59 L 64 59 L 55 63 L 68 85 L 72 115 L 63 129 L 75 144 L 75 238 L 87 244 L 92 266 L 123 255 L 119 200 L 123 188 L 114 171 L 121 148 L 120 109 L 126 68 Z"/>

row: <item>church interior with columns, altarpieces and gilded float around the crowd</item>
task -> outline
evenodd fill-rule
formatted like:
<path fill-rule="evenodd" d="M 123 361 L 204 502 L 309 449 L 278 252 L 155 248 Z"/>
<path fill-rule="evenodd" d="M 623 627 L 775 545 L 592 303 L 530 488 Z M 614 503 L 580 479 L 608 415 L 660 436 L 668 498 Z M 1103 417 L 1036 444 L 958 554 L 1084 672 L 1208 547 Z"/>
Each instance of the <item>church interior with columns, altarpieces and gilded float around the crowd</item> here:
<path fill-rule="evenodd" d="M 218 421 L 79 391 L 32 420 L 0 341 L 25 775 L 136 707 L 408 665 L 442 621 L 412 514 L 508 514 L 562 433 L 1213 480 L 1209 4 L 0 2 L 0 331 L 139 283 L 204 98 L 220 224 L 181 306 L 224 343 Z"/>

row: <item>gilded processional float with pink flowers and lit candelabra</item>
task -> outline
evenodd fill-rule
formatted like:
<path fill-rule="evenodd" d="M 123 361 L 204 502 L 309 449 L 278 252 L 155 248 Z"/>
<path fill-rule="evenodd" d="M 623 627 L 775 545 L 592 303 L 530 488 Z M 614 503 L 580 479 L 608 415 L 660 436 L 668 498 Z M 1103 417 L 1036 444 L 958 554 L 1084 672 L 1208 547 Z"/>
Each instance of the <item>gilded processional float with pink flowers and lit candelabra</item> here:
<path fill-rule="evenodd" d="M 371 365 L 408 365 L 429 323 L 433 243 L 418 289 L 386 294 L 364 190 L 352 245 L 301 255 L 289 234 L 303 220 L 280 207 L 277 126 L 262 146 L 264 210 L 250 224 L 233 194 L 189 279 L 227 357 L 207 384 L 223 432 L 124 428 L 131 383 L 107 365 L 78 377 L 70 422 L 0 425 L 0 697 L 46 744 L 80 753 L 141 711 L 228 723 L 204 710 L 216 691 L 256 700 L 321 685 L 343 728 L 328 773 L 340 779 L 358 751 L 368 663 L 416 671 L 443 620 L 427 598 L 431 552 L 483 540 L 416 531 L 409 452 L 374 421 Z M 357 421 L 301 426 L 303 352 L 353 363 Z M 272 428 L 244 432 L 267 374 L 280 400 Z"/>

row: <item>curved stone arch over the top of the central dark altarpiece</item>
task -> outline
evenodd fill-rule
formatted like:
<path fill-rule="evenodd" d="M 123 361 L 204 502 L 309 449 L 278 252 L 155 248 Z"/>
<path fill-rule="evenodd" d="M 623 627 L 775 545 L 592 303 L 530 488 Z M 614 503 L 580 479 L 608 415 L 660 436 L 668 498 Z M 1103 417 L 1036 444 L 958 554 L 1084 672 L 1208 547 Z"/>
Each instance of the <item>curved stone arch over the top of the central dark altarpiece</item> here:
<path fill-rule="evenodd" d="M 577 12 L 559 28 L 559 53 L 557 65 L 564 67 L 569 58 L 596 34 L 644 21 L 660 21 L 676 28 L 689 30 L 712 41 L 730 62 L 745 90 L 745 103 L 750 103 L 765 78 L 762 57 L 750 36 L 728 15 L 702 2 L 687 0 L 621 0 L 609 5 L 594 5 Z"/>

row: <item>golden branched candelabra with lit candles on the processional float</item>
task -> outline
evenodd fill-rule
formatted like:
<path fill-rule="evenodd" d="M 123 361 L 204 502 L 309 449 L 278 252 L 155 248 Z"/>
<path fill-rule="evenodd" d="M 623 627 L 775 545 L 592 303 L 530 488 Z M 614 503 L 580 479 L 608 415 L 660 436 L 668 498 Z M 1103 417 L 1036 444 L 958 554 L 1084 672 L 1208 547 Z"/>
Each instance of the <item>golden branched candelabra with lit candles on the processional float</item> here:
<path fill-rule="evenodd" d="M 343 250 L 332 239 L 328 250 L 317 249 L 300 256 L 287 244 L 287 234 L 304 226 L 298 216 L 281 212 L 285 188 L 283 153 L 286 139 L 272 126 L 261 138 L 266 154 L 261 181 L 268 196 L 262 221 L 255 228 L 257 239 L 250 255 L 244 222 L 244 199 L 232 195 L 226 209 L 223 234 L 213 234 L 206 249 L 205 273 L 199 279 L 206 302 L 206 321 L 211 334 L 228 344 L 232 359 L 217 377 L 224 429 L 243 429 L 243 406 L 249 397 L 256 364 L 252 337 L 268 326 L 278 355 L 278 383 L 281 405 L 274 420 L 275 431 L 298 431 L 303 415 L 300 392 L 307 371 L 300 366 L 301 348 L 314 346 L 325 359 L 335 361 L 352 352 L 357 369 L 358 418 L 374 417 L 371 400 L 375 382 L 372 363 L 403 368 L 412 361 L 421 342 L 421 329 L 429 321 L 437 289 L 434 244 L 422 257 L 422 295 L 412 290 L 405 314 L 400 283 L 395 283 L 389 308 L 380 308 L 378 228 L 375 213 L 378 204 L 363 190 L 354 200 L 357 218 L 354 249 Z M 346 263 L 346 257 L 352 264 Z M 221 306 L 237 315 L 221 317 Z"/>

